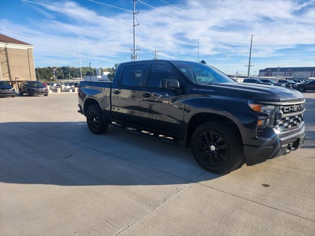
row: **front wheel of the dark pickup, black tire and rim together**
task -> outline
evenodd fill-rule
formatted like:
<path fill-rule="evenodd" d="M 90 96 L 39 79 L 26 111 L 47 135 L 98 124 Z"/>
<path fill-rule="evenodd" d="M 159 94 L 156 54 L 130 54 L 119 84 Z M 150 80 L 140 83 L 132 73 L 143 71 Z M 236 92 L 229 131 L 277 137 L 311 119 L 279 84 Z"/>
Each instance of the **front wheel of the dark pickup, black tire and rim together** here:
<path fill-rule="evenodd" d="M 198 126 L 191 137 L 191 150 L 202 168 L 216 174 L 233 171 L 244 159 L 237 129 L 220 121 Z"/>

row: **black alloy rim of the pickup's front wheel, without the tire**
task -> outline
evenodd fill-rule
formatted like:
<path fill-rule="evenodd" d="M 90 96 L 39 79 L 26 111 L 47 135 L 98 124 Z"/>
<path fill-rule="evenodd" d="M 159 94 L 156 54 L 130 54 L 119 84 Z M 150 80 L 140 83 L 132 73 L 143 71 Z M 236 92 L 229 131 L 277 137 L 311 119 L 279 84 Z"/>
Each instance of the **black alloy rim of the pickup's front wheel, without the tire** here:
<path fill-rule="evenodd" d="M 227 159 L 227 144 L 216 132 L 207 131 L 200 134 L 197 148 L 202 160 L 209 166 L 222 165 Z"/>

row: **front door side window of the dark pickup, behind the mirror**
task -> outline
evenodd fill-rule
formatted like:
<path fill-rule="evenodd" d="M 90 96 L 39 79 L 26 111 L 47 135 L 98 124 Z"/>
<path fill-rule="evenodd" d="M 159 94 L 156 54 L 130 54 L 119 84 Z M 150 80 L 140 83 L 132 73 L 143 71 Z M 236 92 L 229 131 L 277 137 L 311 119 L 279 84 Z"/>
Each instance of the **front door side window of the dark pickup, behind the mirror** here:
<path fill-rule="evenodd" d="M 166 65 L 153 64 L 151 65 L 148 87 L 159 88 L 162 80 L 178 80 L 171 68 Z"/>

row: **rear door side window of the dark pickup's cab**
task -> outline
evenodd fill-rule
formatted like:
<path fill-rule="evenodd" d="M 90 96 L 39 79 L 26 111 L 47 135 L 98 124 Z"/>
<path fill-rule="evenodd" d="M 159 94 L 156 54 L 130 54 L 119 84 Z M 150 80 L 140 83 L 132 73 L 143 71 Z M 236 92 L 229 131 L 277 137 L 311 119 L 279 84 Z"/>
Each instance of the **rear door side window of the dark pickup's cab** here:
<path fill-rule="evenodd" d="M 125 66 L 121 83 L 128 86 L 142 86 L 144 67 L 143 64 Z"/>

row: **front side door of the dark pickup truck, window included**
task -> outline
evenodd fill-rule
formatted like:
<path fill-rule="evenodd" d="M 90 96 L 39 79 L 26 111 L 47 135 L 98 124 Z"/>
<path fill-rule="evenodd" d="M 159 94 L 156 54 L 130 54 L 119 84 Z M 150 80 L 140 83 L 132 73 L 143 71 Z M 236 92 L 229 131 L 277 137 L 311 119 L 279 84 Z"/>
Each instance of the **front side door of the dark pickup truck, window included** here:
<path fill-rule="evenodd" d="M 174 79 L 180 82 L 180 89 L 159 88 L 162 80 Z M 183 95 L 185 86 L 181 77 L 167 64 L 152 63 L 146 84 L 148 87 L 140 92 L 142 126 L 182 137 L 186 96 Z"/>

